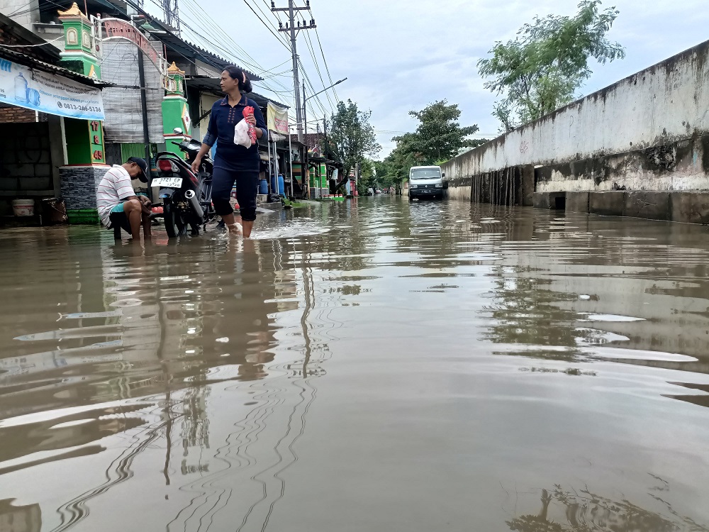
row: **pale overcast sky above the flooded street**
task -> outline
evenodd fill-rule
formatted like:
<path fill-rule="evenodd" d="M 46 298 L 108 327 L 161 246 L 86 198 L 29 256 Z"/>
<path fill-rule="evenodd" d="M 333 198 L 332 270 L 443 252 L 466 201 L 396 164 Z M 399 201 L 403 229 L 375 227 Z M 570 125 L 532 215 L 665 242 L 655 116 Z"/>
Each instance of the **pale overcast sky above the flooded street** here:
<path fill-rule="evenodd" d="M 194 16 L 194 0 L 179 1 L 181 14 L 192 20 L 191 26 L 208 26 L 204 18 L 200 23 Z M 287 0 L 276 4 L 287 6 Z M 415 119 L 408 111 L 423 109 L 439 99 L 459 105 L 462 125 L 477 124 L 480 133 L 496 136 L 499 123 L 491 116 L 496 96 L 483 88 L 476 62 L 486 57 L 496 40 L 514 38 L 520 26 L 535 15 L 573 15 L 578 11 L 577 4 L 567 0 L 311 0 L 311 9 L 333 81 L 347 77 L 346 82 L 337 85 L 337 96 L 345 101 L 352 99 L 361 109 L 372 111 L 372 125 L 381 132 L 378 138 L 384 148 L 380 154 L 383 157 L 394 146 L 392 136 L 415 129 Z M 250 57 L 218 36 L 218 32 L 210 32 L 206 38 L 234 50 L 233 56 L 242 65 L 250 70 L 259 67 L 258 72 L 288 70 L 266 82 L 271 89 L 280 91 L 278 94 L 269 92 L 263 84 L 256 84 L 255 91 L 293 105 L 290 52 L 248 7 L 257 12 L 260 8 L 277 26 L 277 18 L 269 10 L 270 0 L 201 0 L 199 5 Z M 304 6 L 305 0 L 297 0 L 296 5 Z M 582 94 L 613 84 L 709 39 L 707 0 L 603 2 L 603 8 L 614 5 L 620 15 L 608 38 L 625 46 L 627 56 L 607 65 L 593 65 L 593 75 L 581 89 Z M 152 7 L 150 11 L 155 12 Z M 307 11 L 303 14 L 308 20 L 311 18 Z M 259 16 L 265 18 L 262 13 Z M 286 20 L 283 14 L 281 20 Z M 306 33 L 315 48 L 324 85 L 308 50 Z M 189 38 L 187 33 L 183 36 Z M 297 45 L 313 86 L 323 89 L 330 79 L 316 33 L 301 32 Z M 333 92 L 328 94 L 334 105 Z M 321 94 L 319 98 L 329 114 L 332 106 L 327 96 Z M 294 121 L 294 110 L 290 115 Z M 309 100 L 308 121 L 313 118 L 322 119 L 323 111 Z M 313 128 L 314 124 L 308 127 Z"/>

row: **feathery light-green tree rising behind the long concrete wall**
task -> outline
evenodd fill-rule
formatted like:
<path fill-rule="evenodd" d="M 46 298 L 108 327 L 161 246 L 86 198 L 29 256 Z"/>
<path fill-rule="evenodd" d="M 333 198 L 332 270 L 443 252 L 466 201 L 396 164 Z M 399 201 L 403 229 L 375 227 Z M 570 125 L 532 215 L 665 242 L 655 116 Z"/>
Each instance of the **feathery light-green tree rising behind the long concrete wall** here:
<path fill-rule="evenodd" d="M 498 95 L 493 116 L 511 131 L 575 99 L 574 93 L 591 75 L 588 59 L 601 64 L 623 59 L 619 43 L 605 38 L 618 10 L 599 10 L 601 0 L 584 0 L 576 16 L 534 18 L 520 28 L 515 40 L 497 42 L 492 57 L 479 60 L 484 85 Z"/>

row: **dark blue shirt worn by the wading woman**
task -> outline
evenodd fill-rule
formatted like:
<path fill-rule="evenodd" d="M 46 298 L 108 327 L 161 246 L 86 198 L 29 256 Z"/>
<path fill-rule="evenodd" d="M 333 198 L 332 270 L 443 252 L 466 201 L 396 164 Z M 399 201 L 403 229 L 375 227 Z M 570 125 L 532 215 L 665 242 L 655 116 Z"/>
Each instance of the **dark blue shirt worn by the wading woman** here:
<path fill-rule="evenodd" d="M 204 135 L 202 142 L 208 146 L 213 146 L 215 142 L 217 143 L 217 153 L 214 157 L 215 168 L 230 171 L 259 171 L 258 142 L 252 144 L 251 148 L 245 148 L 234 143 L 234 128 L 244 118 L 243 111 L 247 105 L 254 108 L 256 127 L 261 128 L 264 135 L 268 135 L 263 113 L 258 104 L 252 99 L 243 96 L 241 101 L 233 107 L 229 105 L 228 96 L 214 102 L 211 116 L 209 117 L 209 125 L 207 126 L 207 134 Z"/>

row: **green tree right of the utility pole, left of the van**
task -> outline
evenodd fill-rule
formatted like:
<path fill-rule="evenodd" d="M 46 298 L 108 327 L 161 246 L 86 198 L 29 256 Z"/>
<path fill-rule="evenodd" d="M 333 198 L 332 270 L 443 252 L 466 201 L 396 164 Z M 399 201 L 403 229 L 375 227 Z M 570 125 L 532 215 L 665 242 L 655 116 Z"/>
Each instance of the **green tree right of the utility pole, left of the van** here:
<path fill-rule="evenodd" d="M 328 124 L 327 149 L 344 165 L 342 179 L 367 155 L 374 157 L 381 150 L 369 123 L 371 116 L 372 111 L 360 111 L 352 100 L 347 100 L 347 105 L 337 102 L 337 112 Z"/>

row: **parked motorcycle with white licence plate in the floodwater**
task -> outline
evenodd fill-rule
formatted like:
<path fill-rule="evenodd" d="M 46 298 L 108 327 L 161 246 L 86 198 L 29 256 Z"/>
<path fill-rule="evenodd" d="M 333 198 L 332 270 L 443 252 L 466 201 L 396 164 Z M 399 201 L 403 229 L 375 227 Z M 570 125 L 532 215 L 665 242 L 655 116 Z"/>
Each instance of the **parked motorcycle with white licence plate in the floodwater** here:
<path fill-rule="evenodd" d="M 181 134 L 182 130 L 177 128 L 174 133 Z M 158 153 L 157 177 L 152 179 L 150 187 L 160 187 L 162 218 L 170 238 L 186 234 L 188 227 L 192 235 L 199 235 L 199 227 L 204 231 L 206 224 L 216 217 L 212 205 L 213 161 L 209 155 L 202 157 L 199 172 L 194 174 L 191 165 L 201 143 L 190 139 L 173 144 L 186 153 L 187 160 L 172 152 Z"/>

